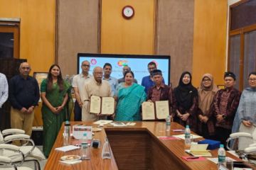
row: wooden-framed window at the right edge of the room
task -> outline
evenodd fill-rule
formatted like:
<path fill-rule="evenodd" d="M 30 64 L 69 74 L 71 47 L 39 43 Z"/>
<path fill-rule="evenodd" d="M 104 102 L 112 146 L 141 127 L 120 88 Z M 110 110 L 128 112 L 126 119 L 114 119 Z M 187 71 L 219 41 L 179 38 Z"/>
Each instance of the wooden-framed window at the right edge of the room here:
<path fill-rule="evenodd" d="M 250 72 L 256 71 L 256 0 L 230 6 L 228 70 L 237 76 L 236 88 L 248 86 Z"/>

